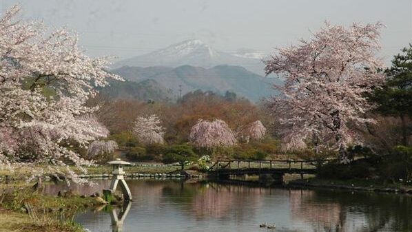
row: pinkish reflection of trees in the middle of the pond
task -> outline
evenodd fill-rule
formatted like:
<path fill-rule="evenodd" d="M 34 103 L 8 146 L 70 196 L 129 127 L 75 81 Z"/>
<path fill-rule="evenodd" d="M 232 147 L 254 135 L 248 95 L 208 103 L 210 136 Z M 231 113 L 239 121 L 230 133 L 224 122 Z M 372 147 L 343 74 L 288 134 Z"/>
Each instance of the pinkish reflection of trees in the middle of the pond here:
<path fill-rule="evenodd" d="M 250 218 L 262 204 L 260 189 L 217 183 L 168 185 L 165 199 L 176 203 L 183 213 L 196 220 L 218 218 L 242 221 Z M 251 197 L 252 196 L 252 197 Z"/>

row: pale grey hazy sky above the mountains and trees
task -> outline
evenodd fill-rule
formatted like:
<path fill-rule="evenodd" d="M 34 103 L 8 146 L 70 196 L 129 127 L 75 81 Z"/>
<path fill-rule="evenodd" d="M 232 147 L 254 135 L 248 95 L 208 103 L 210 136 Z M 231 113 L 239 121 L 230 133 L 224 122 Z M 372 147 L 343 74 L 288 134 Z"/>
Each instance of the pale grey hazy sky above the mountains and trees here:
<path fill-rule="evenodd" d="M 333 24 L 382 21 L 380 56 L 389 61 L 412 43 L 412 0 L 0 0 L 1 12 L 20 3 L 21 17 L 66 26 L 91 56 L 119 59 L 185 39 L 231 52 L 272 52 Z"/>

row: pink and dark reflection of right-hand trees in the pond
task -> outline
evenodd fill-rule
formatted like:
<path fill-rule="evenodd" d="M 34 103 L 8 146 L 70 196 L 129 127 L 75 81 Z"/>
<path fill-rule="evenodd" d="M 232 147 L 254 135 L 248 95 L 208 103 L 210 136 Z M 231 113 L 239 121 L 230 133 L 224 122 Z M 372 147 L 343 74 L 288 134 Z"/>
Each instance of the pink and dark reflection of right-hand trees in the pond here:
<path fill-rule="evenodd" d="M 412 231 L 412 198 L 347 191 L 290 191 L 293 220 L 313 231 Z"/>

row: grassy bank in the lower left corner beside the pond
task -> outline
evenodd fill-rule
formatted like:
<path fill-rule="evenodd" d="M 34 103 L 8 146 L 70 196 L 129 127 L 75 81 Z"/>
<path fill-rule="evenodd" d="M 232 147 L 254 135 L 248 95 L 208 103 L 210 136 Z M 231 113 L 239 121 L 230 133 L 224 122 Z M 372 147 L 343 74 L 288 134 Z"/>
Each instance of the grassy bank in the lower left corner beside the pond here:
<path fill-rule="evenodd" d="M 45 196 L 30 187 L 16 187 L 0 195 L 0 231 L 83 232 L 72 221 L 74 213 L 100 205 L 96 198 L 76 193 Z"/>

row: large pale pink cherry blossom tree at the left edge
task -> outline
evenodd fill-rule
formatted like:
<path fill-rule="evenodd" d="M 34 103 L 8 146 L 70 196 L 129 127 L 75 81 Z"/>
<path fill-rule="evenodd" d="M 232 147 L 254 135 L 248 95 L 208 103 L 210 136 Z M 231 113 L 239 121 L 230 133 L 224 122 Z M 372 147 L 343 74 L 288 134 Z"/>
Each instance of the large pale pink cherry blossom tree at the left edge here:
<path fill-rule="evenodd" d="M 79 180 L 68 164 L 90 162 L 69 141 L 87 146 L 108 132 L 85 102 L 107 77 L 121 78 L 105 71 L 106 59 L 85 56 L 75 34 L 48 34 L 41 23 L 17 19 L 19 11 L 14 6 L 0 19 L 0 165 L 32 165 L 36 175 L 63 166 L 62 174 Z"/>

